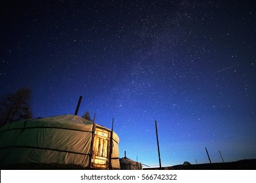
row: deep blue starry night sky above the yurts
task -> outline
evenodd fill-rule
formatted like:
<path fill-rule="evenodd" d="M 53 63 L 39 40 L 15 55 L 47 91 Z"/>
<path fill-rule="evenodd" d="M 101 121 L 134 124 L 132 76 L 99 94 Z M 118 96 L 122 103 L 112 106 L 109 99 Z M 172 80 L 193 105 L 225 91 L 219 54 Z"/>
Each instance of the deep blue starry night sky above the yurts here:
<path fill-rule="evenodd" d="M 33 117 L 96 112 L 120 158 L 256 158 L 255 1 L 1 1 L 0 95 Z"/>

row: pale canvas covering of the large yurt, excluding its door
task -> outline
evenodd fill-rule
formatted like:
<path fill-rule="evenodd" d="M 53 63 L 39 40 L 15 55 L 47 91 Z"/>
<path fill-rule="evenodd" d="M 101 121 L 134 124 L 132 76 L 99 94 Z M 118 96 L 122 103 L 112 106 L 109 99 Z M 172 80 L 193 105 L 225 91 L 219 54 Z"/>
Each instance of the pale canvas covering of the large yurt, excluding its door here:
<path fill-rule="evenodd" d="M 75 115 L 22 120 L 5 125 L 0 128 L 0 166 L 58 163 L 88 167 L 92 129 L 92 122 Z M 119 137 L 113 132 L 113 169 L 120 169 L 119 159 L 116 159 L 119 158 L 118 144 Z"/>

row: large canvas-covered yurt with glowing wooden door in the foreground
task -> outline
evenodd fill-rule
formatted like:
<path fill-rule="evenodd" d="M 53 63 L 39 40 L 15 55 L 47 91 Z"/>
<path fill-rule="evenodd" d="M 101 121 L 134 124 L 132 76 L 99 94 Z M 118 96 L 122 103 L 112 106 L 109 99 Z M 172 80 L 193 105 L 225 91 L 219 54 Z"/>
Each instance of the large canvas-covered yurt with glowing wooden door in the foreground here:
<path fill-rule="evenodd" d="M 120 169 L 119 137 L 76 115 L 0 128 L 1 169 Z"/>

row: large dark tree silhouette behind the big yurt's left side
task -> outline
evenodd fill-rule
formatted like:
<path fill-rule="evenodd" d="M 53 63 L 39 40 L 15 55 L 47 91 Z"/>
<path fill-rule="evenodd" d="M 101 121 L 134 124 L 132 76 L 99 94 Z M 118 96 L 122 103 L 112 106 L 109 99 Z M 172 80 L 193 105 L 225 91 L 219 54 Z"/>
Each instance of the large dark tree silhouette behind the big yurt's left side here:
<path fill-rule="evenodd" d="M 0 104 L 0 124 L 5 125 L 15 120 L 32 118 L 30 100 L 30 88 L 20 88 L 16 93 L 3 95 Z"/>

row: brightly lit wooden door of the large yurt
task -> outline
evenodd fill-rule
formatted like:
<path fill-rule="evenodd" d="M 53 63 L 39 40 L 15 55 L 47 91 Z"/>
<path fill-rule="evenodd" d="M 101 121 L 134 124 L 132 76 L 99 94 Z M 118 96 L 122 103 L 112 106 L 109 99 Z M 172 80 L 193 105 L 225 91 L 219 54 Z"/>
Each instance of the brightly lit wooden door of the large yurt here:
<path fill-rule="evenodd" d="M 109 131 L 96 127 L 94 135 L 94 148 L 92 152 L 92 167 L 107 169 L 108 167 L 108 148 Z"/>

